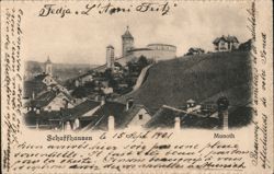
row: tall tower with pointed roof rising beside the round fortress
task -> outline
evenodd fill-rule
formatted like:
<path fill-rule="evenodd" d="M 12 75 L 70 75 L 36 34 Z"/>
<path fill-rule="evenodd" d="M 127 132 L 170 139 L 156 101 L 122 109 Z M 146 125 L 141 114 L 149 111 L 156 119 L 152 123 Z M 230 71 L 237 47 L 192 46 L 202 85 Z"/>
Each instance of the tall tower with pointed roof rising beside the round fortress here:
<path fill-rule="evenodd" d="M 127 56 L 128 50 L 130 50 L 134 47 L 134 37 L 130 34 L 128 26 L 126 28 L 126 32 L 122 35 L 122 56 Z"/>

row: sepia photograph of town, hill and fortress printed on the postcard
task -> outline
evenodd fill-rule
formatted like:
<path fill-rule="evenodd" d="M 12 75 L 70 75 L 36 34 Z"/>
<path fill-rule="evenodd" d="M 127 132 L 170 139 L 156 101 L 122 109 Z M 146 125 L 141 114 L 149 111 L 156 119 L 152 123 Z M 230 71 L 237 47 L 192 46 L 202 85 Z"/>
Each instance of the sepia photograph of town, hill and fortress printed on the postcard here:
<path fill-rule="evenodd" d="M 172 15 L 160 18 L 116 14 L 100 25 L 89 19 L 75 26 L 64 19 L 57 28 L 46 27 L 45 19 L 38 25 L 44 30 L 27 38 L 26 126 L 77 131 L 248 126 L 252 38 L 246 9 L 203 9 L 174 7 Z"/>

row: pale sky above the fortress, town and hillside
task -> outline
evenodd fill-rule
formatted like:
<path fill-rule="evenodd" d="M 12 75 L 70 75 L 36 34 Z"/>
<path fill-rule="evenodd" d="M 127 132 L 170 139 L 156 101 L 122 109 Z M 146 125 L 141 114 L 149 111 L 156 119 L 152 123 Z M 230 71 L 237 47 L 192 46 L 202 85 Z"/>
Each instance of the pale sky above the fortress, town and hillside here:
<path fill-rule="evenodd" d="M 87 3 L 68 2 L 66 7 L 79 10 Z M 213 50 L 213 39 L 221 35 L 235 35 L 240 42 L 250 38 L 247 2 L 178 2 L 167 15 L 157 12 L 99 15 L 94 12 L 88 16 L 65 18 L 38 16 L 43 5 L 39 2 L 22 5 L 25 12 L 24 56 L 27 60 L 45 61 L 49 56 L 53 62 L 102 65 L 105 62 L 105 47 L 110 44 L 115 47 L 115 56 L 121 56 L 121 35 L 127 25 L 135 37 L 135 47 L 151 43 L 171 44 L 178 47 L 178 56 L 190 47 Z M 121 5 L 127 7 L 129 2 Z"/>

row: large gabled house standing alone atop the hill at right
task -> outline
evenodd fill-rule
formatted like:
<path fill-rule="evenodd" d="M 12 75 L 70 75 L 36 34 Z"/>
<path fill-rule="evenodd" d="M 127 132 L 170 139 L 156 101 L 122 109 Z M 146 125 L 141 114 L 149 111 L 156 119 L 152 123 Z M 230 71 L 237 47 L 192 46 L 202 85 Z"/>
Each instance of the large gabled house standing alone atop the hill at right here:
<path fill-rule="evenodd" d="M 231 50 L 236 50 L 239 47 L 239 40 L 236 36 L 221 36 L 221 37 L 217 37 L 214 42 L 213 42 L 214 46 L 215 46 L 215 50 L 216 51 L 231 51 Z"/>

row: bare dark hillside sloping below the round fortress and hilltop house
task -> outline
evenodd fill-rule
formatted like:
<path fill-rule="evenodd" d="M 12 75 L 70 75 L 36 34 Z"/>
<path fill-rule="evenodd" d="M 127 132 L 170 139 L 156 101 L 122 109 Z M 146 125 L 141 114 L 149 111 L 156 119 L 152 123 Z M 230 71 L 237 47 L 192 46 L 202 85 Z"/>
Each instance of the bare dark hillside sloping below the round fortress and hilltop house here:
<path fill-rule="evenodd" d="M 147 80 L 126 95 L 155 113 L 161 105 L 181 107 L 189 98 L 216 102 L 225 95 L 231 105 L 250 102 L 251 60 L 248 51 L 184 56 L 161 61 L 149 69 Z"/>

